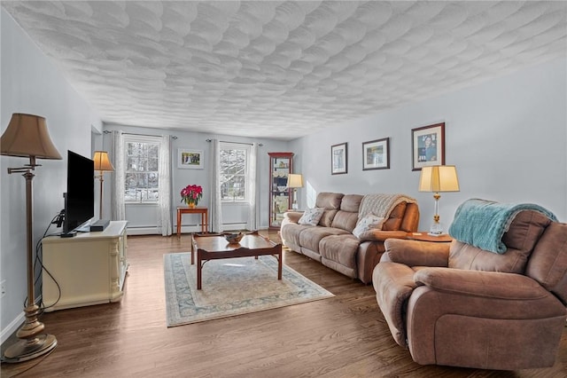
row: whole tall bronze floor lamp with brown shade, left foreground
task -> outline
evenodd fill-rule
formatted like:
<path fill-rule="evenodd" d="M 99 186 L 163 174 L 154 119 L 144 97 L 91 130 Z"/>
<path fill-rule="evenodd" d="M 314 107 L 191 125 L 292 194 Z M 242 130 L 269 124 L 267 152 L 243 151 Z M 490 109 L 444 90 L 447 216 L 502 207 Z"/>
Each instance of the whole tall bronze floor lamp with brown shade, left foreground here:
<path fill-rule="evenodd" d="M 26 228 L 27 228 L 27 301 L 24 313 L 26 320 L 19 328 L 19 341 L 6 350 L 3 362 L 23 362 L 49 353 L 57 346 L 54 335 L 44 334 L 43 323 L 37 318 L 40 308 L 35 304 L 34 294 L 34 256 L 33 256 L 33 208 L 32 170 L 39 167 L 36 159 L 57 159 L 61 155 L 51 142 L 45 118 L 33 114 L 12 114 L 8 127 L 0 137 L 0 154 L 29 158 L 29 164 L 20 168 L 9 168 L 8 174 L 23 173 L 26 178 Z"/>

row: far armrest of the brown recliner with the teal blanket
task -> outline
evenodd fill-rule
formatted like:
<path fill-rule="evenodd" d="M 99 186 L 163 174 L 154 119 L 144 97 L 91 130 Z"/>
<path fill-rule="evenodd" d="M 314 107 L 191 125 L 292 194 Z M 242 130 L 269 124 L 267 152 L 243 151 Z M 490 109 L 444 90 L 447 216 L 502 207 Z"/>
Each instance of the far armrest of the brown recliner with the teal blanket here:
<path fill-rule="evenodd" d="M 380 261 L 440 267 L 447 267 L 449 263 L 449 243 L 388 239 L 384 241 L 384 248 Z"/>

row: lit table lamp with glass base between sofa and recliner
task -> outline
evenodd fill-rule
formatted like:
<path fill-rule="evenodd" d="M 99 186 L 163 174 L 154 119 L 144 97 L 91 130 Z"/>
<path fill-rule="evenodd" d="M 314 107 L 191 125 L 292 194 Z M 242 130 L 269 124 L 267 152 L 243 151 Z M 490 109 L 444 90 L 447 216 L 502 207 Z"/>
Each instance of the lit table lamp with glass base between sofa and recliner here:
<path fill-rule="evenodd" d="M 443 192 L 459 192 L 459 178 L 457 177 L 457 169 L 454 165 L 432 165 L 422 168 L 421 177 L 419 177 L 419 191 L 433 192 L 435 199 L 435 215 L 433 216 L 433 224 L 429 234 L 431 236 L 439 236 L 443 233 L 443 227 L 439 223 L 439 193 Z"/>

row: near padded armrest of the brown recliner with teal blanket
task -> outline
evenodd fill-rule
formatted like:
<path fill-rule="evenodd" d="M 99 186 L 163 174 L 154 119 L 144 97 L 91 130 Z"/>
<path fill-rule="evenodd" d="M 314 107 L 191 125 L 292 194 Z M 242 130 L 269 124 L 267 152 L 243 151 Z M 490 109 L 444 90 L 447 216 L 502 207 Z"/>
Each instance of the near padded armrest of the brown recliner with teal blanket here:
<path fill-rule="evenodd" d="M 549 295 L 536 280 L 516 273 L 424 268 L 414 274 L 414 281 L 444 293 L 491 299 L 524 301 Z"/>

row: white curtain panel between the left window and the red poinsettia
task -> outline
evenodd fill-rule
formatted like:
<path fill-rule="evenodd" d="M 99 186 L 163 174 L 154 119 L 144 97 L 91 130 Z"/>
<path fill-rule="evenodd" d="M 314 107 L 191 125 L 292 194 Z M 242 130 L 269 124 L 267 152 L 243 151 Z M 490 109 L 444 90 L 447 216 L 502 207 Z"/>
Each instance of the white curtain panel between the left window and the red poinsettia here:
<path fill-rule="evenodd" d="M 159 202 L 158 202 L 158 228 L 162 236 L 172 233 L 171 219 L 171 149 L 168 135 L 161 137 L 159 146 Z"/>

